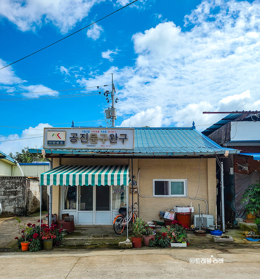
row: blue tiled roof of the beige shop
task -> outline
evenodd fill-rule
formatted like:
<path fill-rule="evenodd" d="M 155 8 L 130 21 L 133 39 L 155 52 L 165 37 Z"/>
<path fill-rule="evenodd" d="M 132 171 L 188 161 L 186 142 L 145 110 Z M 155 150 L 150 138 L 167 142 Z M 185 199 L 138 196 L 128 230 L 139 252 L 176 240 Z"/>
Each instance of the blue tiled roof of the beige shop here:
<path fill-rule="evenodd" d="M 192 128 L 134 128 L 134 150 L 50 150 L 47 154 L 133 154 L 133 155 L 206 155 L 224 154 L 228 150 Z M 37 153 L 30 149 L 31 153 Z M 41 153 L 41 150 L 39 150 Z M 239 153 L 239 151 L 238 151 Z"/>

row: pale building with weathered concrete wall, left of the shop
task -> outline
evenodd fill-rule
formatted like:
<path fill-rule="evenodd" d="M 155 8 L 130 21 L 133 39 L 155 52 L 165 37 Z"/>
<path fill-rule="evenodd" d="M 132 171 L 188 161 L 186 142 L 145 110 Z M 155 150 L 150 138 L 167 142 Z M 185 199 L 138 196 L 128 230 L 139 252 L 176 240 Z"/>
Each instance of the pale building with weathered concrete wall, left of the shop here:
<path fill-rule="evenodd" d="M 22 169 L 23 175 L 18 167 Z M 0 151 L 0 202 L 2 215 L 27 215 L 40 207 L 40 173 L 49 169 L 49 162 L 19 164 Z M 46 209 L 46 187 L 42 208 Z"/>

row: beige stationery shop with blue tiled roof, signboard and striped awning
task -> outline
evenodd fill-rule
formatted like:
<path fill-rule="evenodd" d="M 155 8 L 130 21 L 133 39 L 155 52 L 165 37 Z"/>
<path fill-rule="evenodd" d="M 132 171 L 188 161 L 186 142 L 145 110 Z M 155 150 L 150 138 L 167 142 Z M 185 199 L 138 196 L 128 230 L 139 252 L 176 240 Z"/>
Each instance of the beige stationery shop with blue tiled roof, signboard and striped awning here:
<path fill-rule="evenodd" d="M 237 152 L 219 146 L 194 125 L 45 128 L 44 139 L 44 149 L 29 150 L 51 160 L 41 185 L 53 185 L 52 213 L 58 218 L 74 215 L 76 224 L 112 224 L 126 203 L 126 190 L 127 202 L 132 204 L 133 195 L 145 221 L 159 221 L 160 210 L 191 202 L 194 214 L 200 204 L 204 214 L 215 216 L 216 157 Z M 132 169 L 134 193 L 128 187 Z"/>

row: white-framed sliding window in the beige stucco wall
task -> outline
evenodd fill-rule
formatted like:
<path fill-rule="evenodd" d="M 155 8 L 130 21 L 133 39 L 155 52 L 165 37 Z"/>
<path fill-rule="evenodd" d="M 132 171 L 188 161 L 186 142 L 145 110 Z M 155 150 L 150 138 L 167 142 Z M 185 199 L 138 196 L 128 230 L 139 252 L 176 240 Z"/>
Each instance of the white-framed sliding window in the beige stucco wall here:
<path fill-rule="evenodd" d="M 154 197 L 187 197 L 187 179 L 153 179 Z"/>

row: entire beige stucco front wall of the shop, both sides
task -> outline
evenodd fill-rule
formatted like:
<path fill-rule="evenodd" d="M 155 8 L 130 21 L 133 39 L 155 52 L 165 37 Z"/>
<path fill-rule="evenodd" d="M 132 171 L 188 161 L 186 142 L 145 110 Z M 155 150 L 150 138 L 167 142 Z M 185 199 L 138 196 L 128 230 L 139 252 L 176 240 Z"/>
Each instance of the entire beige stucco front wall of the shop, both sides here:
<path fill-rule="evenodd" d="M 59 165 L 117 165 L 129 164 L 131 177 L 131 159 L 53 159 L 53 168 Z M 199 170 L 200 165 L 200 170 Z M 215 159 L 133 159 L 134 180 L 138 180 L 139 172 L 139 193 L 142 196 L 152 196 L 153 179 L 187 179 L 188 196 L 195 197 L 199 183 L 197 198 L 208 201 L 208 214 L 215 216 L 216 202 L 216 167 Z M 129 187 L 130 188 L 130 187 Z M 130 190 L 130 189 L 129 189 Z M 52 212 L 59 214 L 59 200 L 61 189 L 53 186 Z M 134 202 L 137 202 L 138 194 L 134 193 Z M 159 211 L 173 209 L 175 205 L 194 207 L 194 214 L 198 214 L 198 204 L 201 211 L 206 214 L 206 203 L 203 200 L 191 200 L 189 198 L 175 197 L 149 197 L 139 196 L 140 217 L 145 221 L 159 219 Z M 129 194 L 129 204 L 132 203 L 132 194 Z M 59 215 L 58 215 L 59 216 Z"/>

